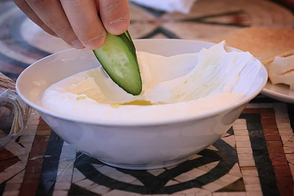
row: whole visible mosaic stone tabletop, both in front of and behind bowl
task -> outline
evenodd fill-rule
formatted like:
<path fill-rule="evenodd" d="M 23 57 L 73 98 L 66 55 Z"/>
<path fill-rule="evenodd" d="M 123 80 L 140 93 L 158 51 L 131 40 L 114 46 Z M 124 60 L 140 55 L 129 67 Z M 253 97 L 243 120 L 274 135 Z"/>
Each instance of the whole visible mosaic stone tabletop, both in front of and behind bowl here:
<path fill-rule="evenodd" d="M 209 40 L 245 26 L 293 28 L 290 9 L 267 0 L 198 0 L 190 15 L 131 5 L 134 38 Z M 68 46 L 0 0 L 0 72 L 25 67 Z M 258 96 L 234 126 L 176 167 L 108 167 L 63 142 L 36 115 L 16 141 L 0 148 L 3 196 L 293 196 L 294 106 Z"/>

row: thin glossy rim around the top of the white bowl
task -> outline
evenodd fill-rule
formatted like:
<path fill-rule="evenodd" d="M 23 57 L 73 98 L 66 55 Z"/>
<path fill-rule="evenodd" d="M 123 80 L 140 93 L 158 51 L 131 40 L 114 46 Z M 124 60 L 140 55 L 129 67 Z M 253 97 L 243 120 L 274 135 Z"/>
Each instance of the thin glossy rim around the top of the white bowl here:
<path fill-rule="evenodd" d="M 140 41 L 147 41 L 147 40 L 150 40 L 150 39 L 134 39 L 133 41 L 134 42 L 140 42 Z M 152 39 L 152 40 L 153 41 L 156 41 L 156 40 L 160 40 L 160 41 L 169 40 L 169 41 L 171 41 L 171 40 L 173 40 L 173 41 L 189 41 L 189 42 L 193 41 L 193 42 L 198 42 L 198 43 L 216 44 L 216 43 L 212 43 L 212 42 L 204 42 L 204 41 L 199 41 L 199 40 L 187 40 L 187 39 Z M 227 47 L 230 47 L 230 46 L 227 46 Z M 237 50 L 237 51 L 238 50 L 242 51 L 240 49 L 236 49 L 236 48 L 233 48 L 233 47 L 230 47 L 230 48 L 234 49 L 234 50 Z M 62 50 L 62 51 L 59 51 L 59 52 L 55 52 L 53 54 L 50 54 L 49 56 L 46 56 L 46 57 L 44 57 L 42 59 L 39 59 L 38 61 L 34 62 L 33 64 L 31 64 L 30 66 L 25 68 L 25 70 L 17 78 L 16 91 L 17 91 L 18 96 L 25 103 L 27 103 L 29 106 L 34 108 L 37 112 L 40 111 L 41 113 L 44 113 L 44 114 L 49 115 L 51 117 L 61 119 L 61 120 L 66 120 L 66 121 L 73 121 L 73 122 L 76 122 L 76 123 L 84 123 L 84 124 L 92 124 L 92 125 L 100 125 L 100 126 L 129 126 L 129 127 L 132 127 L 132 126 L 158 126 L 158 125 L 184 123 L 184 122 L 207 119 L 207 118 L 210 118 L 210 117 L 217 116 L 217 115 L 219 115 L 219 114 L 221 114 L 223 112 L 226 112 L 226 111 L 232 111 L 233 109 L 238 108 L 239 106 L 242 106 L 244 104 L 249 103 L 250 100 L 255 98 L 264 89 L 265 85 L 267 84 L 267 80 L 268 80 L 267 69 L 262 64 L 261 69 L 264 70 L 266 79 L 263 81 L 261 86 L 252 95 L 250 95 L 247 98 L 242 98 L 241 100 L 235 102 L 232 105 L 228 105 L 226 107 L 223 107 L 223 108 L 220 108 L 220 109 L 217 109 L 217 110 L 213 110 L 213 111 L 210 111 L 210 112 L 204 112 L 204 113 L 200 113 L 200 114 L 191 115 L 189 117 L 184 117 L 184 118 L 179 117 L 177 119 L 172 119 L 172 120 L 167 119 L 167 120 L 162 120 L 162 121 L 157 121 L 157 122 L 144 122 L 144 121 L 136 121 L 136 122 L 99 122 L 99 121 L 95 121 L 95 120 L 87 120 L 87 119 L 80 119 L 80 118 L 76 118 L 76 117 L 70 117 L 70 116 L 67 116 L 67 115 L 58 114 L 58 113 L 49 111 L 49 110 L 47 110 L 47 109 L 45 109 L 45 108 L 43 108 L 41 106 L 38 106 L 37 104 L 33 103 L 32 101 L 28 100 L 27 98 L 25 98 L 25 96 L 22 94 L 22 92 L 18 88 L 22 75 L 25 74 L 25 71 L 27 69 L 29 69 L 31 66 L 39 63 L 43 59 L 49 58 L 49 57 L 51 57 L 51 56 L 53 56 L 55 54 L 62 53 L 62 52 L 65 52 L 65 51 L 69 51 L 69 50 L 75 50 L 75 49 L 74 48 L 73 49 L 66 49 L 66 50 Z"/>

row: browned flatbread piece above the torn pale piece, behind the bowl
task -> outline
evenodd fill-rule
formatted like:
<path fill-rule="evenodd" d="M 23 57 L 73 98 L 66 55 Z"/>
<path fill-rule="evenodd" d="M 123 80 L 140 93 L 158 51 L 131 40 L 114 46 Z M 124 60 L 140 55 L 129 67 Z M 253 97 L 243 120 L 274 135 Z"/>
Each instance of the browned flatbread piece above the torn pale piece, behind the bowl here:
<path fill-rule="evenodd" d="M 227 46 L 249 51 L 264 65 L 276 56 L 286 57 L 294 54 L 294 29 L 242 28 L 212 41 L 225 40 Z"/>

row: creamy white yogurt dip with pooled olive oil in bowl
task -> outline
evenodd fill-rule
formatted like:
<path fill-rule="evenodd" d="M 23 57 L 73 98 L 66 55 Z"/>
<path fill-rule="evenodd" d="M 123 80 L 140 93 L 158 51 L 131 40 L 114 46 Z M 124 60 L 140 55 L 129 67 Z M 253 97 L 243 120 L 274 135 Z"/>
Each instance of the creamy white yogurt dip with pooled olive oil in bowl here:
<path fill-rule="evenodd" d="M 41 104 L 97 122 L 154 122 L 211 112 L 244 98 L 261 68 L 249 52 L 224 48 L 221 42 L 199 53 L 171 57 L 137 52 L 141 95 L 127 94 L 99 67 L 51 85 Z"/>

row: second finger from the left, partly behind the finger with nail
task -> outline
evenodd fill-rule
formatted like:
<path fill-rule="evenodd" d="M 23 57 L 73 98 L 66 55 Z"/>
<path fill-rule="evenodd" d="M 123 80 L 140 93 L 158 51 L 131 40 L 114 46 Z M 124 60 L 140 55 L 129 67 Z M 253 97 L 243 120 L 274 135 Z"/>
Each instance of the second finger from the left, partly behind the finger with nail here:
<path fill-rule="evenodd" d="M 73 32 L 59 0 L 26 0 L 37 16 L 68 45 L 77 49 L 84 46 Z"/>

